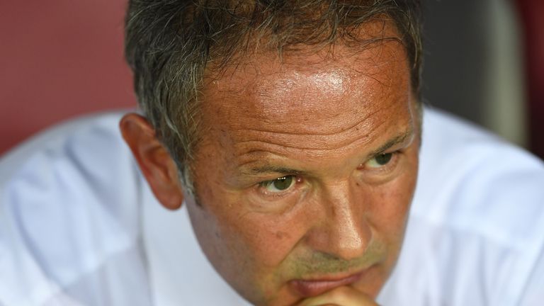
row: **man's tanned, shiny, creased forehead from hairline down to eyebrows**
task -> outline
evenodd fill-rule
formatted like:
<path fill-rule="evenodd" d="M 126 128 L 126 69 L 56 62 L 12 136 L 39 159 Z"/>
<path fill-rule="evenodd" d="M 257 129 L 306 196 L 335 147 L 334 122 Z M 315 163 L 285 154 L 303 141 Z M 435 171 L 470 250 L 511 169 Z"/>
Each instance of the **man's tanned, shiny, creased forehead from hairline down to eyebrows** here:
<path fill-rule="evenodd" d="M 215 152 L 231 165 L 334 160 L 412 128 L 409 64 L 395 39 L 254 53 L 208 77 L 201 97 L 196 157 Z"/>

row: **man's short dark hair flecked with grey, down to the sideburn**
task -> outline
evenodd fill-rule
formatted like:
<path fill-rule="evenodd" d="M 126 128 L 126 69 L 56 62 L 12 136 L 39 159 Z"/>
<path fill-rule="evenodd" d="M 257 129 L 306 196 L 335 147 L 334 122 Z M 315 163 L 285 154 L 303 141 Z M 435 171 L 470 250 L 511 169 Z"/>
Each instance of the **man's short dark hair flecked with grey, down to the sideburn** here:
<path fill-rule="evenodd" d="M 280 55 L 338 40 L 363 46 L 369 41 L 358 40 L 356 30 L 384 18 L 397 27 L 419 96 L 419 0 L 130 0 L 125 57 L 134 72 L 140 108 L 191 192 L 205 74 L 251 53 L 256 45 Z"/>

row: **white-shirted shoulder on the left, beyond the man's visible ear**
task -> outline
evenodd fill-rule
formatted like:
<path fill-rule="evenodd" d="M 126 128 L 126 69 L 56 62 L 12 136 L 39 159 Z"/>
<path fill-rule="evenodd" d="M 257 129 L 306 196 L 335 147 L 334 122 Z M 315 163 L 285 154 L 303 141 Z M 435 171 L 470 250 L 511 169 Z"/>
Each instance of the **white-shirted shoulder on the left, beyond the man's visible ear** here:
<path fill-rule="evenodd" d="M 122 114 L 63 123 L 0 159 L 0 304 L 69 301 L 64 294 L 89 302 L 107 289 L 101 279 L 115 286 L 115 271 L 144 272 L 142 182 L 118 132 Z"/>

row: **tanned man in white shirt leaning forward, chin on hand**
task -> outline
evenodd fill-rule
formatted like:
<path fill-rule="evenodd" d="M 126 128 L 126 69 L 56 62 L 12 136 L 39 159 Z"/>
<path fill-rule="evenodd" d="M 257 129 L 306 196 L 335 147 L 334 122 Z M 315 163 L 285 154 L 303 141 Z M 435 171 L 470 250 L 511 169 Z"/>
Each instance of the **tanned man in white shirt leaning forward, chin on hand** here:
<path fill-rule="evenodd" d="M 62 149 L 6 166 L 31 179 L 0 184 L 0 302 L 538 305 L 543 165 L 424 111 L 418 11 L 131 1 L 144 115 L 124 115 L 120 130 L 174 212 L 107 141 L 118 116 L 65 128 L 79 132 L 55 138 Z"/>

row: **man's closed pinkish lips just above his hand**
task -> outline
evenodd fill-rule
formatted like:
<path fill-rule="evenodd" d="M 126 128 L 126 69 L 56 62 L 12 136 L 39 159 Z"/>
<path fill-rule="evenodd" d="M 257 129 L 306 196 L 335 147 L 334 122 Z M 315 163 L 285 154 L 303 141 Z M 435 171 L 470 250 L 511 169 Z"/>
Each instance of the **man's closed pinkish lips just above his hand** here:
<path fill-rule="evenodd" d="M 356 283 L 358 280 L 361 279 L 364 272 L 365 270 L 341 278 L 325 276 L 322 278 L 315 278 L 310 280 L 295 279 L 290 280 L 289 285 L 293 290 L 295 290 L 296 293 L 298 293 L 302 297 L 313 297 L 336 287 Z"/>

